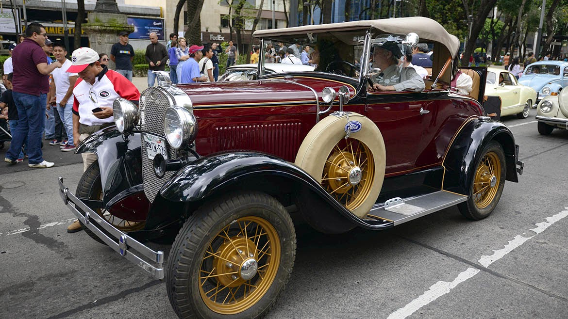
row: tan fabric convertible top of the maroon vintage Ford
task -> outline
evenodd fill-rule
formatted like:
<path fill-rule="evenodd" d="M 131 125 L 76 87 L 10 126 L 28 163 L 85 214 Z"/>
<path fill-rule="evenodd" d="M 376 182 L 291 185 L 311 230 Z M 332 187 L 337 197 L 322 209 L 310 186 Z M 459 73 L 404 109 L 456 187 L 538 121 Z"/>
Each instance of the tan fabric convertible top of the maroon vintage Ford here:
<path fill-rule="evenodd" d="M 460 40 L 450 35 L 448 31 L 435 20 L 423 16 L 410 18 L 391 18 L 380 20 L 350 21 L 341 23 L 319 24 L 314 26 L 301 26 L 293 28 L 281 28 L 271 30 L 254 31 L 254 37 L 278 37 L 304 33 L 356 31 L 368 28 L 377 29 L 378 33 L 403 33 L 415 32 L 420 37 L 420 42 L 438 42 L 448 48 L 452 56 L 455 56 L 460 48 Z"/>

